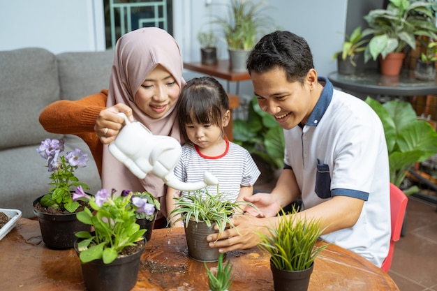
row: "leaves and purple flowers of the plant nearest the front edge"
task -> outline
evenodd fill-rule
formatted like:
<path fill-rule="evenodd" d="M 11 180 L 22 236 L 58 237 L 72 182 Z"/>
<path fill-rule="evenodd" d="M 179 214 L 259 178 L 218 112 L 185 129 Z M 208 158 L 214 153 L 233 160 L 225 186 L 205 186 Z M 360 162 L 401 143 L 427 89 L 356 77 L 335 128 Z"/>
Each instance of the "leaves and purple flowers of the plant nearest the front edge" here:
<path fill-rule="evenodd" d="M 117 195 L 112 189 L 101 189 L 96 195 L 84 193 L 81 186 L 73 193 L 73 200 L 86 200 L 94 209 L 85 208 L 76 214 L 82 223 L 94 227 L 94 232 L 76 232 L 81 240 L 77 243 L 82 263 L 102 259 L 105 264 L 113 262 L 126 246 L 135 246 L 144 239 L 145 229 L 136 223 L 137 213 L 154 214 L 155 206 L 147 198 L 135 197 L 131 191 Z"/>

